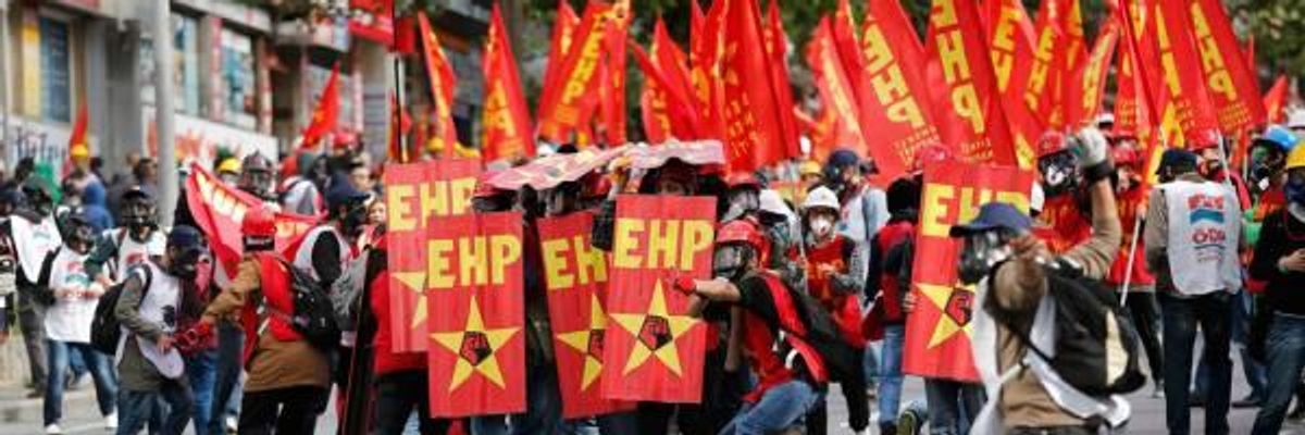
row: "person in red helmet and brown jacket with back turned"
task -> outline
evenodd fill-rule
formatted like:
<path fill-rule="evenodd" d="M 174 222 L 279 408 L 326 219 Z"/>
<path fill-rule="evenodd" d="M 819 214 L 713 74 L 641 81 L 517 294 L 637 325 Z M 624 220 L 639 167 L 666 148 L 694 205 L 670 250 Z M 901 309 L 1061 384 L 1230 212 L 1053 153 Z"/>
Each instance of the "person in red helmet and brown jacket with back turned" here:
<path fill-rule="evenodd" d="M 239 432 L 313 432 L 330 392 L 330 359 L 290 321 L 295 314 L 291 264 L 273 251 L 273 209 L 249 210 L 241 234 L 245 256 L 236 278 L 202 317 L 210 328 L 218 320 L 239 321 L 249 344 L 243 353 L 249 378 Z"/>

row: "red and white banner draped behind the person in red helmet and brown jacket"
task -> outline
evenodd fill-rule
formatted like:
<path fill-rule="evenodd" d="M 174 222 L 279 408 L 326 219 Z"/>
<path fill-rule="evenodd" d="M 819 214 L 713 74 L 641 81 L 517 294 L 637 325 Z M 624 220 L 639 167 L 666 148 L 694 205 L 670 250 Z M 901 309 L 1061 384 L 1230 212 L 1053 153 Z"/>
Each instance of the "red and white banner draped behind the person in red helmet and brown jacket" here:
<path fill-rule="evenodd" d="M 240 223 L 251 208 L 262 206 L 262 200 L 227 185 L 198 163 L 191 163 L 191 176 L 185 179 L 185 205 L 194 225 L 209 239 L 209 248 L 218 263 L 219 283 L 235 278 L 236 266 L 244 255 Z M 277 213 L 277 252 L 294 259 L 308 230 L 321 222 L 320 217 Z"/>

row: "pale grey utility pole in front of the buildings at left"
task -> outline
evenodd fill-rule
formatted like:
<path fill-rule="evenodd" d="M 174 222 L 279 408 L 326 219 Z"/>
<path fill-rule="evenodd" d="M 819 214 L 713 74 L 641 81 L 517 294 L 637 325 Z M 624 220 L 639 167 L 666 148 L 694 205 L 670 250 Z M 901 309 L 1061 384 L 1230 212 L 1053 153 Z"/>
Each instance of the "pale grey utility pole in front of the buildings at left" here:
<path fill-rule="evenodd" d="M 172 131 L 172 4 L 154 1 L 154 128 L 158 128 L 159 226 L 172 226 L 177 199 L 176 149 Z"/>

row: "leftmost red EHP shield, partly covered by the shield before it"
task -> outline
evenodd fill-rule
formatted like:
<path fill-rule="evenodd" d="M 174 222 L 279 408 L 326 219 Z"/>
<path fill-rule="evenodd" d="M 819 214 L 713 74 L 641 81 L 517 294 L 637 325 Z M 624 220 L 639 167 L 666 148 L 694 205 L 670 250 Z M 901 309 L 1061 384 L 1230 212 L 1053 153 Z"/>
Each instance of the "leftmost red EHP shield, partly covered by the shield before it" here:
<path fill-rule="evenodd" d="M 385 167 L 389 235 L 390 333 L 394 351 L 425 351 L 427 256 L 431 218 L 471 213 L 480 163 L 438 159 Z"/>

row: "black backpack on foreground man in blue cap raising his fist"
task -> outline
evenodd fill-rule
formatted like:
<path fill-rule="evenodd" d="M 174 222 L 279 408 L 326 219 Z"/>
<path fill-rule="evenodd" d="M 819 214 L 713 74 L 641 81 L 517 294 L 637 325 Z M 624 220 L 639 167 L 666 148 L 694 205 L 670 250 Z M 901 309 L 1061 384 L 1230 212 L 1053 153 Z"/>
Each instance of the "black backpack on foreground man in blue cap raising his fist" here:
<path fill-rule="evenodd" d="M 1128 395 L 1142 388 L 1146 376 L 1139 363 L 1138 332 L 1114 291 L 1064 259 L 1044 269 L 1047 297 L 1056 310 L 1056 355 L 1035 346 L 1027 328 L 1004 324 L 1061 379 L 1086 395 Z"/>

